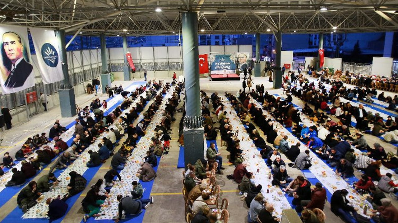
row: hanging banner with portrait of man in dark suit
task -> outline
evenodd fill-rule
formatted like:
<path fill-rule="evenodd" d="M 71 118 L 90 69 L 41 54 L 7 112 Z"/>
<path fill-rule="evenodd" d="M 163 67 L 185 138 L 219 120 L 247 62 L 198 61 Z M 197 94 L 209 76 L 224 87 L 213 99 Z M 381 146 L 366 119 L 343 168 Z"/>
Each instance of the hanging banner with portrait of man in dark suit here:
<path fill-rule="evenodd" d="M 0 83 L 2 94 L 35 85 L 26 27 L 0 25 Z"/>

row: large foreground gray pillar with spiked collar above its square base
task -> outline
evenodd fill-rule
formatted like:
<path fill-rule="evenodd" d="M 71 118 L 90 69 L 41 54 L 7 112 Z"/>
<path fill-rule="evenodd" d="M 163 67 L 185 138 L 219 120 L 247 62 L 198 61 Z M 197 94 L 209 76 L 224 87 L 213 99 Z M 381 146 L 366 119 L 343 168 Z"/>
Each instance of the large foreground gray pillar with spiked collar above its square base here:
<path fill-rule="evenodd" d="M 199 85 L 198 14 L 182 13 L 183 64 L 185 76 L 185 165 L 203 159 L 203 127 Z M 186 167 L 185 167 L 186 168 Z"/>

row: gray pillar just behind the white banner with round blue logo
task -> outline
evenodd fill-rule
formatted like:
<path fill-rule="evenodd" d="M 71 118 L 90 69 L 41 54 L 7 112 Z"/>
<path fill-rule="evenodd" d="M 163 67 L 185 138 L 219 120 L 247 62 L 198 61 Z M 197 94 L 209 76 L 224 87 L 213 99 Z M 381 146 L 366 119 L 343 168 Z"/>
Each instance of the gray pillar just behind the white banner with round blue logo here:
<path fill-rule="evenodd" d="M 56 30 L 55 36 L 58 39 L 59 59 L 62 64 L 62 73 L 64 80 L 61 84 L 61 89 L 58 90 L 59 106 L 61 109 L 61 117 L 73 117 L 76 115 L 76 100 L 74 89 L 70 84 L 68 71 L 68 58 L 66 57 L 65 31 Z"/>

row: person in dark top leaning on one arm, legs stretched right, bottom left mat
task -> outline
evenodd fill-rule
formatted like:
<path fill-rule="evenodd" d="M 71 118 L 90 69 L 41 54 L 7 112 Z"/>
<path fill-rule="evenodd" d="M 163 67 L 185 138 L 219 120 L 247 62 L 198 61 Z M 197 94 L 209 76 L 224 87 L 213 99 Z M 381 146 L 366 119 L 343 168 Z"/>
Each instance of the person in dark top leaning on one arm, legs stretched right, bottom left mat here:
<path fill-rule="evenodd" d="M 153 197 L 150 199 L 133 200 L 130 196 L 123 197 L 119 194 L 116 199 L 119 202 L 119 216 L 115 219 L 115 223 L 118 223 L 122 219 L 123 211 L 125 211 L 126 215 L 136 215 L 141 213 L 142 209 L 148 208 L 149 204 L 153 204 Z"/>

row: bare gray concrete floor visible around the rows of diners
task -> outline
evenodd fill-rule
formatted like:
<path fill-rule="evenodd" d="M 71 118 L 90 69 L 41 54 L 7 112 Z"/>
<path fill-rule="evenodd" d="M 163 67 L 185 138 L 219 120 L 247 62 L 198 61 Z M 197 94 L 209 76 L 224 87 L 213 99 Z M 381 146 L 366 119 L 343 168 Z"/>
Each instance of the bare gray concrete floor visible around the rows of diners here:
<path fill-rule="evenodd" d="M 273 89 L 272 83 L 269 83 L 268 78 L 265 77 L 255 77 L 253 78 L 253 86 L 257 84 L 264 84 L 265 90 L 272 94 L 282 94 L 282 90 Z M 138 81 L 143 81 L 138 80 Z M 171 81 L 171 79 L 165 79 L 165 81 Z M 223 94 L 224 91 L 228 91 L 231 93 L 236 93 L 242 87 L 242 81 L 217 81 L 212 82 L 207 78 L 201 78 L 201 89 L 205 90 L 205 92 L 210 95 L 212 92 L 217 91 L 219 94 Z M 127 87 L 131 84 L 131 82 L 117 81 L 116 85 L 122 84 L 123 87 Z M 386 95 L 393 95 L 393 93 L 386 92 Z M 103 100 L 107 98 L 107 96 L 99 95 L 100 99 Z M 76 102 L 79 106 L 85 106 L 90 103 L 94 94 L 87 95 L 78 95 L 76 96 Z M 298 106 L 304 106 L 304 104 L 293 97 L 293 103 Z M 147 108 L 147 107 L 146 107 Z M 155 202 L 150 208 L 146 211 L 144 216 L 144 223 L 152 223 L 156 221 L 162 220 L 164 223 L 183 223 L 185 222 L 184 212 L 184 201 L 181 194 L 182 188 L 182 171 L 183 169 L 177 169 L 176 165 L 178 162 L 178 154 L 179 154 L 179 146 L 178 146 L 178 125 L 181 119 L 182 113 L 176 113 L 176 121 L 172 123 L 172 141 L 170 153 L 164 157 L 159 163 L 158 168 L 158 177 L 154 181 L 154 186 L 152 188 L 152 196 L 154 196 Z M 39 115 L 35 115 L 31 121 L 27 123 L 14 123 L 13 128 L 11 130 L 7 130 L 1 133 L 4 141 L 1 146 L 6 146 L 5 148 L 1 148 L 0 154 L 4 154 L 5 151 L 9 151 L 10 154 L 14 154 L 16 150 L 18 150 L 21 144 L 25 141 L 25 139 L 29 136 L 32 136 L 36 133 L 47 132 L 49 128 L 53 124 L 55 119 L 60 119 L 61 124 L 66 125 L 74 120 L 74 118 L 60 118 L 60 109 L 52 108 L 49 112 L 43 112 Z M 217 126 L 218 124 L 216 124 Z M 27 130 L 29 129 L 29 130 Z M 261 131 L 259 131 L 261 132 Z M 22 133 L 22 134 L 21 134 Z M 261 133 L 262 134 L 262 133 Z M 373 144 L 374 142 L 380 143 L 386 151 L 394 151 L 396 152 L 396 148 L 391 144 L 386 142 L 382 142 L 379 138 L 371 135 L 365 135 L 367 142 L 369 144 Z M 122 138 L 125 140 L 125 138 Z M 8 143 L 8 142 L 11 143 Z M 219 138 L 217 140 L 219 142 Z M 9 147 L 10 146 L 10 147 Z M 229 154 L 226 152 L 226 147 L 219 146 L 219 151 L 224 157 L 224 162 L 226 162 L 226 155 Z M 118 148 L 117 148 L 118 149 Z M 110 161 L 104 163 L 98 173 L 96 173 L 95 177 L 90 181 L 89 185 L 94 184 L 100 177 L 103 177 L 105 172 L 109 169 Z M 246 204 L 239 199 L 239 194 L 237 191 L 237 184 L 232 183 L 231 180 L 226 179 L 226 175 L 232 174 L 234 170 L 233 165 L 224 165 L 226 169 L 224 170 L 224 175 L 217 175 L 217 184 L 221 186 L 222 192 L 220 193 L 220 200 L 222 198 L 227 198 L 229 200 L 228 211 L 230 212 L 230 223 L 242 223 L 247 222 L 247 210 Z M 297 169 L 292 169 L 287 167 L 287 171 L 291 177 L 296 177 L 301 174 L 301 172 Z M 42 171 L 35 179 L 38 179 L 47 173 L 47 171 Z M 359 173 L 357 173 L 359 174 Z M 88 190 L 88 189 L 86 189 Z M 85 194 L 87 191 L 84 191 Z M 80 222 L 83 216 L 83 212 L 81 209 L 80 201 L 83 199 L 81 196 L 78 201 L 74 204 L 72 209 L 66 214 L 62 223 L 70 223 L 70 222 Z M 396 201 L 393 202 L 394 206 L 398 207 L 398 203 Z M 10 213 L 16 207 L 16 196 L 8 201 L 0 212 L 0 221 Z M 326 203 L 326 207 L 324 209 L 327 219 L 326 223 L 342 223 L 338 217 L 336 217 L 330 211 L 330 204 Z"/>

